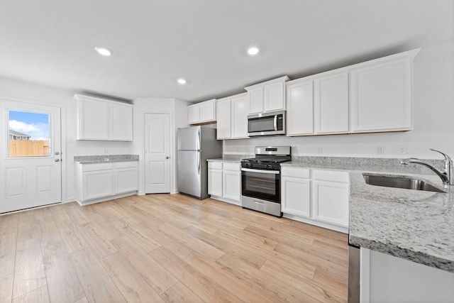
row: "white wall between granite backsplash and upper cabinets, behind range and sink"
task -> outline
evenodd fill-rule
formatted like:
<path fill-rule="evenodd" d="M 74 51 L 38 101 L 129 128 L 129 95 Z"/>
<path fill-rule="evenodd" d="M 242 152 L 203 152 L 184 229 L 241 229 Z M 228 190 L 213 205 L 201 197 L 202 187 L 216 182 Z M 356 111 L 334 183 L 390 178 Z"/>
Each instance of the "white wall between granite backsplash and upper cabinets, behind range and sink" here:
<path fill-rule="evenodd" d="M 227 140 L 224 153 L 254 154 L 255 145 L 291 145 L 293 155 L 442 158 L 428 150 L 434 148 L 454 157 L 453 87 L 454 41 L 423 48 L 415 58 L 413 131 Z M 406 146 L 407 155 L 399 154 L 401 145 Z M 384 147 L 383 155 L 377 155 L 377 146 Z"/>

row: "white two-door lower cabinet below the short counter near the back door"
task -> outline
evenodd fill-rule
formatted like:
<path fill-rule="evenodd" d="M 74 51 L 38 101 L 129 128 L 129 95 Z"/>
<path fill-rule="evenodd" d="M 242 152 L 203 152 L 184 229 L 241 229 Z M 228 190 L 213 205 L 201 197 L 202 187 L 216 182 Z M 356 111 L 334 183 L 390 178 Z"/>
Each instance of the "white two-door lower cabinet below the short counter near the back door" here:
<path fill-rule="evenodd" d="M 138 190 L 138 162 L 79 164 L 79 204 L 92 204 L 135 194 Z"/>

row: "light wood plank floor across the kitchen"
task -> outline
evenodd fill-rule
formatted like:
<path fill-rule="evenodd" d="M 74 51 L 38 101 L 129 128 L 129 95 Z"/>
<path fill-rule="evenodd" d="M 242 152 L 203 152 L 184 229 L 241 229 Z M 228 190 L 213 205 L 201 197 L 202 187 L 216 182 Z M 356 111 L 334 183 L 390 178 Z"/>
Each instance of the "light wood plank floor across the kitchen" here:
<path fill-rule="evenodd" d="M 0 216 L 0 302 L 346 302 L 347 235 L 150 194 Z"/>

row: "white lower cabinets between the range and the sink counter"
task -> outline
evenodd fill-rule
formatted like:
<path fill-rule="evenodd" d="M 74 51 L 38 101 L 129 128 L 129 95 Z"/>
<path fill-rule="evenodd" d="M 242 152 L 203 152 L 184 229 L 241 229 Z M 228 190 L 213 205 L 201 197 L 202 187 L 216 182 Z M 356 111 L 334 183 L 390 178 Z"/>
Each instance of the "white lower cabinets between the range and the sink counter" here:
<path fill-rule="evenodd" d="M 282 212 L 338 231 L 348 229 L 350 177 L 337 170 L 282 167 Z"/>

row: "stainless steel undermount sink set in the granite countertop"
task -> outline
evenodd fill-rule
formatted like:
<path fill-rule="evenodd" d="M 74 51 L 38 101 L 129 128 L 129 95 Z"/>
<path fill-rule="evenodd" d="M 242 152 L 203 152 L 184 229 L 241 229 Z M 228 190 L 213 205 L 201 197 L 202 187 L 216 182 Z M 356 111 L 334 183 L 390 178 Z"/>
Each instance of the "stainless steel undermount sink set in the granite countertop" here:
<path fill-rule="evenodd" d="M 404 189 L 424 190 L 427 192 L 444 192 L 437 187 L 428 184 L 427 182 L 414 178 L 407 177 L 390 177 L 380 175 L 365 175 L 362 174 L 367 184 L 383 187 L 397 187 Z"/>

